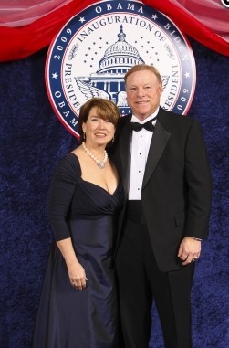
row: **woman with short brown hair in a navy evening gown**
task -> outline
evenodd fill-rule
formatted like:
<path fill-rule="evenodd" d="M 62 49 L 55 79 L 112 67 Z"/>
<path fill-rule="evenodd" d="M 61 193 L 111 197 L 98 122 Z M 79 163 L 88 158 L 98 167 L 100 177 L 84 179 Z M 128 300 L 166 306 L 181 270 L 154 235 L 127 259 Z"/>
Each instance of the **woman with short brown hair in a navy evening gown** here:
<path fill-rule="evenodd" d="M 80 109 L 82 144 L 57 164 L 48 215 L 56 243 L 50 253 L 33 348 L 119 348 L 112 263 L 123 191 L 105 148 L 120 120 L 109 100 Z"/>

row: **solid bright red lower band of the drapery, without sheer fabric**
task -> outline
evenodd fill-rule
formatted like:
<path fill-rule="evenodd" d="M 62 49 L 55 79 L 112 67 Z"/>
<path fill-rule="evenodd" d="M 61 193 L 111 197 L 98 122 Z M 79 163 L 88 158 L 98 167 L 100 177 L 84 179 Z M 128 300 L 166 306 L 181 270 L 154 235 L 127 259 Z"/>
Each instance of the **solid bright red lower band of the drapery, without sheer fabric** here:
<path fill-rule="evenodd" d="M 26 58 L 47 47 L 68 19 L 97 2 L 72 0 L 67 5 L 58 5 L 57 9 L 49 12 L 47 16 L 41 16 L 26 26 L 0 26 L 0 61 Z M 142 3 L 169 16 L 184 34 L 220 54 L 229 56 L 229 43 L 208 26 L 204 26 L 181 5 L 177 5 L 175 0 L 142 0 Z"/>

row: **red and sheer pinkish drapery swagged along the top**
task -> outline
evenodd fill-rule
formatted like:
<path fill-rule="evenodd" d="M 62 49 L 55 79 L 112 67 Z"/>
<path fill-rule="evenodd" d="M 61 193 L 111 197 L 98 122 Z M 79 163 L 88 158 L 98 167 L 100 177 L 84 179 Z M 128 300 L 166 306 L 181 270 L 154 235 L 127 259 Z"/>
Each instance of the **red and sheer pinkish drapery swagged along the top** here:
<path fill-rule="evenodd" d="M 69 18 L 97 2 L 22 0 L 20 5 L 14 5 L 14 0 L 5 0 L 4 5 L 2 1 L 0 61 L 26 58 L 47 47 Z M 169 16 L 184 34 L 229 56 L 229 9 L 220 0 L 142 0 L 142 3 Z"/>

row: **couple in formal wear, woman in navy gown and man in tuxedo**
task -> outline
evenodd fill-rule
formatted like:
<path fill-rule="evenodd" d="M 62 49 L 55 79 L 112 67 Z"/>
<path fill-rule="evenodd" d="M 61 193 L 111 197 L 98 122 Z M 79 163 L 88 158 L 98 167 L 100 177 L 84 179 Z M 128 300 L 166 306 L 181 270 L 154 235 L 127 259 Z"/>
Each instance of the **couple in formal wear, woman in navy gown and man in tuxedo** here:
<path fill-rule="evenodd" d="M 55 243 L 33 348 L 147 348 L 153 301 L 164 346 L 192 347 L 194 261 L 211 206 L 203 134 L 197 121 L 161 108 L 157 69 L 132 67 L 125 86 L 132 114 L 88 100 L 82 143 L 53 174 Z"/>

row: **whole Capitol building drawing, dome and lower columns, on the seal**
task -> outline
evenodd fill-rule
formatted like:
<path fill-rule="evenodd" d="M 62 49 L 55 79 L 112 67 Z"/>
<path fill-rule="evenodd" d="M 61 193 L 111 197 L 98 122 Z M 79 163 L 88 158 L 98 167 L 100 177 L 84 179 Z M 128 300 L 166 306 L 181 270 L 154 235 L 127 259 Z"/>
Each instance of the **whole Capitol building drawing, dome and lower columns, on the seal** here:
<path fill-rule="evenodd" d="M 119 107 L 127 107 L 124 75 L 133 66 L 144 64 L 138 50 L 126 41 L 123 26 L 120 26 L 118 41 L 106 49 L 103 58 L 99 61 L 96 73 L 86 77 L 78 77 L 88 90 L 100 90 Z M 80 83 L 81 83 L 80 82 Z M 80 85 L 78 83 L 80 89 Z M 93 94 L 93 93 L 92 93 Z"/>

